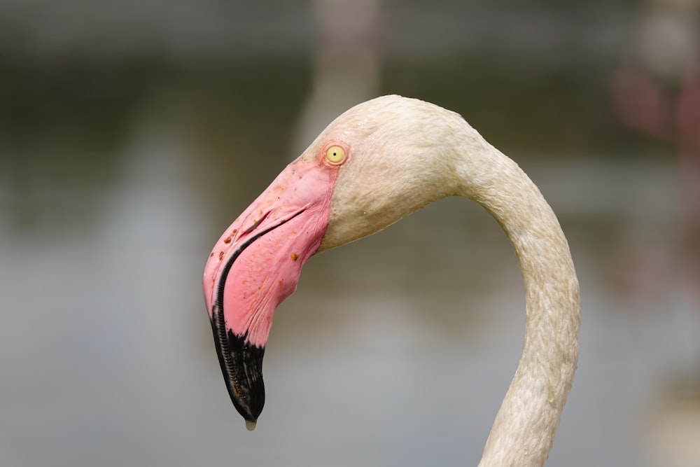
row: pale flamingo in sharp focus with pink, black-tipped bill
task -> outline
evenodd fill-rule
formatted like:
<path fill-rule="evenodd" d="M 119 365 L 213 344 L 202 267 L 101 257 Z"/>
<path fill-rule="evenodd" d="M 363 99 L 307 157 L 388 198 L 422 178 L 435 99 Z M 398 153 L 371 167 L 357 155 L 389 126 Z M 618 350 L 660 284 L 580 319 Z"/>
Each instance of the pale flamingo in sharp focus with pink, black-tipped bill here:
<path fill-rule="evenodd" d="M 481 204 L 520 263 L 526 327 L 517 370 L 479 466 L 542 466 L 578 358 L 579 288 L 540 190 L 457 113 L 400 96 L 336 118 L 211 251 L 204 298 L 221 370 L 249 430 L 262 412 L 262 356 L 276 307 L 315 253 L 377 232 L 442 197 Z"/>

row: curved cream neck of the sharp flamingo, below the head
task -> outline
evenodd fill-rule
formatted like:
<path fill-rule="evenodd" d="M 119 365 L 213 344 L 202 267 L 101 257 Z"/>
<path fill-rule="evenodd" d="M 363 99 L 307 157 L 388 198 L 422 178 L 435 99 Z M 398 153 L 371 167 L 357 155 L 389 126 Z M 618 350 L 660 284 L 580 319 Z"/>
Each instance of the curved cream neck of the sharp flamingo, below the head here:
<path fill-rule="evenodd" d="M 479 140 L 458 158 L 459 194 L 503 227 L 526 293 L 523 351 L 479 466 L 542 466 L 576 370 L 578 281 L 566 238 L 540 190 L 515 162 Z"/>

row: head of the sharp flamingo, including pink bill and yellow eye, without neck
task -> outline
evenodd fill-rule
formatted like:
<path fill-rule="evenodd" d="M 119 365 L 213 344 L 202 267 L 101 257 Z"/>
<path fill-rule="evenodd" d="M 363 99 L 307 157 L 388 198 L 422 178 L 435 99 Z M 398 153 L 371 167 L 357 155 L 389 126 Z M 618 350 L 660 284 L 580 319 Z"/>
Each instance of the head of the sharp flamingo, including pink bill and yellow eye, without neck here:
<path fill-rule="evenodd" d="M 265 403 L 262 356 L 274 310 L 295 290 L 302 265 L 454 194 L 458 181 L 445 176 L 454 167 L 428 157 L 435 141 L 449 144 L 452 124 L 465 125 L 455 113 L 416 99 L 359 104 L 216 242 L 204 267 L 204 300 L 231 400 L 249 429 Z"/>

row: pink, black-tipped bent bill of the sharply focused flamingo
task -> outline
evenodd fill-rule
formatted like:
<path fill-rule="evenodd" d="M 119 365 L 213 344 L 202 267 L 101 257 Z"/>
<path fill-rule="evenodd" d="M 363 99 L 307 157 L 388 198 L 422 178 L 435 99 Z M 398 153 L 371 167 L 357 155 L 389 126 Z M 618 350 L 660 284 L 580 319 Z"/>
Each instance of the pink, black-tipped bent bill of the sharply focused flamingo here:
<path fill-rule="evenodd" d="M 338 167 L 302 156 L 277 176 L 216 242 L 204 301 L 233 405 L 255 422 L 265 404 L 262 356 L 276 307 L 328 227 Z"/>

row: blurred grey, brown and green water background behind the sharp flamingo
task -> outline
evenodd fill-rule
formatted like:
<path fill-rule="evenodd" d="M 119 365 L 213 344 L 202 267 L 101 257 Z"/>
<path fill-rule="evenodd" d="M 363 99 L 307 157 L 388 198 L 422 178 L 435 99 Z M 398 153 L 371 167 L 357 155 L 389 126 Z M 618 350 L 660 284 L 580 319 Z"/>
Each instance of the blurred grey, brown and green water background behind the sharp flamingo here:
<path fill-rule="evenodd" d="M 332 118 L 461 113 L 540 186 L 582 287 L 549 466 L 700 466 L 699 5 L 1 0 L 0 464 L 476 465 L 517 260 L 448 199 L 309 261 L 248 433 L 200 281 Z"/>

